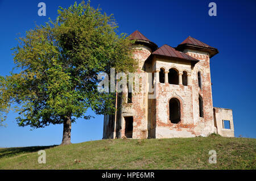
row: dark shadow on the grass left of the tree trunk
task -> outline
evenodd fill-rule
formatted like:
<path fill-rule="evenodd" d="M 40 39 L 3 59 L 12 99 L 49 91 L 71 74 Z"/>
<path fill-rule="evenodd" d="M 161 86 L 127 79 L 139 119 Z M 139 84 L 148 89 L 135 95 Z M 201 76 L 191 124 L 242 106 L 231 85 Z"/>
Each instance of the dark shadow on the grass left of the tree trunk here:
<path fill-rule="evenodd" d="M 36 151 L 39 151 L 39 150 L 53 148 L 55 146 L 59 146 L 59 145 L 2 148 L 2 149 L 0 149 L 0 158 L 13 157 L 15 155 L 24 154 L 24 153 L 32 153 L 32 152 L 36 152 Z"/>

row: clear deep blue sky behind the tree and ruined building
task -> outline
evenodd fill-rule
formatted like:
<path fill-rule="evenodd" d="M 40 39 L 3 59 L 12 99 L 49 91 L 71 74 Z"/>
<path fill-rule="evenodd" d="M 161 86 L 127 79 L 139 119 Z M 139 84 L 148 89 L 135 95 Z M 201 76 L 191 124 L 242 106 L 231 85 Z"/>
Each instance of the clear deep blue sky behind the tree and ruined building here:
<path fill-rule="evenodd" d="M 38 16 L 38 3 L 46 3 L 46 16 Z M 48 18 L 55 19 L 57 9 L 75 1 L 0 0 L 0 74 L 13 68 L 13 53 L 19 36 Z M 80 2 L 80 1 L 78 1 Z M 208 15 L 208 4 L 217 4 L 217 16 Z M 213 106 L 233 109 L 235 136 L 256 138 L 255 67 L 256 67 L 256 1 L 149 1 L 92 0 L 102 11 L 114 14 L 119 32 L 139 30 L 159 47 L 176 47 L 188 36 L 195 37 L 220 53 L 210 60 Z M 18 127 L 15 113 L 0 128 L 0 147 L 60 144 L 63 126 L 34 129 Z M 72 125 L 73 143 L 100 140 L 103 116 L 78 120 Z"/>

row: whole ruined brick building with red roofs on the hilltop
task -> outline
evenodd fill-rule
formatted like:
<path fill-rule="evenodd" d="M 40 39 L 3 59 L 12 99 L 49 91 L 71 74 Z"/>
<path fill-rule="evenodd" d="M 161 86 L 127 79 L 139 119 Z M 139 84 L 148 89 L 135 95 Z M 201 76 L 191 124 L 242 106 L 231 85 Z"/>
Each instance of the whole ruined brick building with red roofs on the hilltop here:
<path fill-rule="evenodd" d="M 218 133 L 234 137 L 232 110 L 213 107 L 210 58 L 216 48 L 188 37 L 176 48 L 158 46 L 141 32 L 133 55 L 146 82 L 144 92 L 127 93 L 117 101 L 115 115 L 104 116 L 103 138 L 173 138 Z M 151 80 L 152 79 L 152 80 Z M 154 83 L 154 97 L 149 92 Z"/>

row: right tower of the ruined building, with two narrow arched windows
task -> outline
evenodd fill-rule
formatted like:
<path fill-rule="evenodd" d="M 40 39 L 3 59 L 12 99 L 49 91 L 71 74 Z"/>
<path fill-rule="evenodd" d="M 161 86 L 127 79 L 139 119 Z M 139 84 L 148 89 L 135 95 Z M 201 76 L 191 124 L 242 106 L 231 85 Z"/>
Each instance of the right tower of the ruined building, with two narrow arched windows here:
<path fill-rule="evenodd" d="M 217 54 L 218 50 L 191 36 L 179 44 L 176 50 L 199 60 L 191 68 L 194 132 L 207 135 L 215 131 L 210 58 Z"/>

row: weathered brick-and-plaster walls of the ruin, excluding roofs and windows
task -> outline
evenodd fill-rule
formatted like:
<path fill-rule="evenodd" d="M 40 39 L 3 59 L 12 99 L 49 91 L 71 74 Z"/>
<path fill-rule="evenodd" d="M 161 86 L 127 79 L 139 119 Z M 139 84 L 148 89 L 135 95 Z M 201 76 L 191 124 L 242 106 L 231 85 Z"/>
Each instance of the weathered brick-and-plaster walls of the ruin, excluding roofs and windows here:
<path fill-rule="evenodd" d="M 118 102 L 121 110 L 118 112 L 116 130 L 117 137 L 125 136 L 125 117 L 133 116 L 133 138 L 172 138 L 172 137 L 195 137 L 207 136 L 210 133 L 218 132 L 223 136 L 234 136 L 232 110 L 223 111 L 215 108 L 213 112 L 212 86 L 210 80 L 210 58 L 207 52 L 200 52 L 195 49 L 185 49 L 183 53 L 199 60 L 196 64 L 182 59 L 152 56 L 152 50 L 146 45 L 133 46 L 134 58 L 139 61 L 138 72 L 154 73 L 154 94 L 150 98 L 149 85 L 152 81 L 147 74 L 142 74 L 141 80 L 144 86 L 141 92 L 133 93 L 132 103 L 127 103 L 127 93 L 123 93 L 126 99 Z M 147 60 L 147 61 L 146 61 Z M 145 62 L 146 61 L 146 62 Z M 165 78 L 170 69 L 174 69 L 179 76 L 179 85 L 172 85 L 159 82 L 159 71 L 164 69 Z M 189 75 L 188 85 L 180 82 L 183 71 Z M 199 87 L 198 72 L 201 73 L 201 88 Z M 203 98 L 203 117 L 200 117 L 199 95 Z M 170 121 L 170 99 L 176 98 L 180 105 L 179 123 Z M 230 131 L 221 128 L 221 119 L 230 120 Z M 114 116 L 105 116 L 104 137 L 113 138 Z M 108 127 L 110 125 L 110 127 Z"/>

